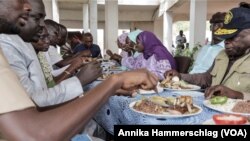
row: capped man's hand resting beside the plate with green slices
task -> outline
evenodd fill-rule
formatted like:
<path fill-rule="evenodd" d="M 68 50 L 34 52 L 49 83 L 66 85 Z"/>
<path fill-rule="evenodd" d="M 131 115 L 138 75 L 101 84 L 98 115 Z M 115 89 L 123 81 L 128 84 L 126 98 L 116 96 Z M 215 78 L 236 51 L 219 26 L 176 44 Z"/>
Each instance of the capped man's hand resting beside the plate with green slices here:
<path fill-rule="evenodd" d="M 205 98 L 210 99 L 213 96 L 227 96 L 233 99 L 243 99 L 243 94 L 238 91 L 234 91 L 226 86 L 223 85 L 216 85 L 208 88 L 205 91 Z"/>

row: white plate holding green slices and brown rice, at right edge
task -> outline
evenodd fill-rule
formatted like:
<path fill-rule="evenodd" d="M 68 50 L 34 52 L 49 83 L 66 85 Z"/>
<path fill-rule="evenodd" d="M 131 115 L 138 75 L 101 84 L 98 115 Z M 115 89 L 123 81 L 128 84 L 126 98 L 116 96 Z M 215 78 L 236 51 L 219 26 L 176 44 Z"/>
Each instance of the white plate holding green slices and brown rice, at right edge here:
<path fill-rule="evenodd" d="M 241 101 L 241 100 L 228 98 L 228 100 L 227 100 L 227 102 L 225 104 L 223 104 L 223 105 L 218 105 L 218 104 L 214 105 L 214 104 L 211 104 L 209 100 L 205 100 L 205 101 L 203 101 L 203 105 L 210 108 L 210 109 L 213 109 L 215 111 L 219 111 L 219 112 L 222 112 L 222 113 L 250 116 L 250 114 L 248 114 L 248 113 L 237 113 L 237 112 L 232 111 L 234 105 L 238 101 Z"/>

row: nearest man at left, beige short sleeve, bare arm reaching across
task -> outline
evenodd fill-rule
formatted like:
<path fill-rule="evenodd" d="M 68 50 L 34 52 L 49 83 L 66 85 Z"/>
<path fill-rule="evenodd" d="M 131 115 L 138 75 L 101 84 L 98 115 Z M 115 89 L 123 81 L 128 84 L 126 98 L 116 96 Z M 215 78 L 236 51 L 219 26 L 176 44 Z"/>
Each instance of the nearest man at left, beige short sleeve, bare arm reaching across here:
<path fill-rule="evenodd" d="M 42 0 L 36 1 L 42 3 Z M 27 0 L 0 1 L 0 33 L 17 34 L 27 22 L 23 16 L 28 17 L 30 11 Z M 60 108 L 39 112 L 20 85 L 18 77 L 10 70 L 1 50 L 0 74 L 0 140 L 2 137 L 8 140 L 70 140 L 117 89 L 150 90 L 158 82 L 146 70 L 116 74 L 82 98 Z"/>

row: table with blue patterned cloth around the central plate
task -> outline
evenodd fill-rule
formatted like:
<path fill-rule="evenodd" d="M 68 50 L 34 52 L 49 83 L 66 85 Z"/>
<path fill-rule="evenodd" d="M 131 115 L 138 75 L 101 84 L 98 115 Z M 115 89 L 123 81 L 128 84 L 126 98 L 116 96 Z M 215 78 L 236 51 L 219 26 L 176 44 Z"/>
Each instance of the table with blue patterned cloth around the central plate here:
<path fill-rule="evenodd" d="M 195 116 L 182 118 L 158 119 L 132 111 L 129 104 L 141 99 L 141 95 L 135 98 L 124 96 L 112 96 L 109 101 L 97 112 L 95 120 L 109 133 L 114 133 L 114 125 L 191 125 L 202 124 L 212 115 L 218 112 L 203 106 L 204 93 L 198 91 L 163 91 L 161 96 L 192 95 L 194 104 L 200 106 L 203 111 Z M 153 96 L 150 94 L 145 96 Z"/>

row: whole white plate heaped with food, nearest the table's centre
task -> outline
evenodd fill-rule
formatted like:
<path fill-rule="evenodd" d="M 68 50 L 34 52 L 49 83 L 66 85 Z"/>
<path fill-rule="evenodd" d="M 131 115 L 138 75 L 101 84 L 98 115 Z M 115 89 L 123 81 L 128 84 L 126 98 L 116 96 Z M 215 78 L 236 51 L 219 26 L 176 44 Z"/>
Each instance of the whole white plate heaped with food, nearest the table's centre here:
<path fill-rule="evenodd" d="M 189 117 L 202 112 L 202 108 L 193 104 L 190 96 L 152 96 L 131 102 L 129 107 L 134 112 L 156 118 Z"/>

